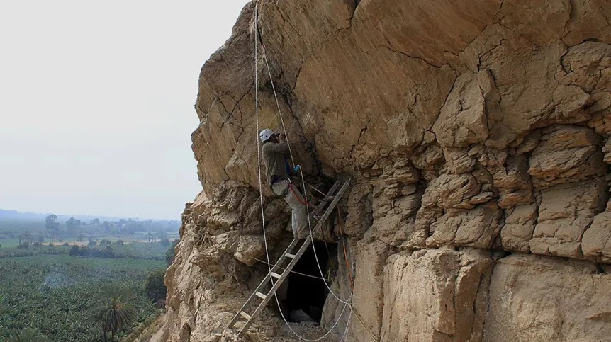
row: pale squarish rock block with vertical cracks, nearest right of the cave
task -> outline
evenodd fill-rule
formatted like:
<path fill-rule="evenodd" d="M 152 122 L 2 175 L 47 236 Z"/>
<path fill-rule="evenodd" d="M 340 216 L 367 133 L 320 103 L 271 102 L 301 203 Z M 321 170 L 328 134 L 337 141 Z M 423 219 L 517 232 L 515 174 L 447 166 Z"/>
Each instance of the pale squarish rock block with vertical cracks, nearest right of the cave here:
<path fill-rule="evenodd" d="M 381 341 L 481 341 L 493 265 L 483 250 L 424 249 L 389 261 Z"/>

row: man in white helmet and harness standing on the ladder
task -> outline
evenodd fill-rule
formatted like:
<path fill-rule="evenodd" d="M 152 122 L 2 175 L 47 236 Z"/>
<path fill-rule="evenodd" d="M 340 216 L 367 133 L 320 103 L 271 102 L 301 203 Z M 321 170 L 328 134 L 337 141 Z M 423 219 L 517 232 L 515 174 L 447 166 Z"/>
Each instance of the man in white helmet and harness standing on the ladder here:
<path fill-rule="evenodd" d="M 267 182 L 271 191 L 279 195 L 289 207 L 291 207 L 292 220 L 291 227 L 295 239 L 306 239 L 308 236 L 308 210 L 306 200 L 301 192 L 291 182 L 291 166 L 286 160 L 288 152 L 288 142 L 284 135 L 277 135 L 274 131 L 266 128 L 259 132 L 259 138 L 263 142 L 263 162 Z M 298 171 L 299 166 L 295 166 L 294 171 Z"/>

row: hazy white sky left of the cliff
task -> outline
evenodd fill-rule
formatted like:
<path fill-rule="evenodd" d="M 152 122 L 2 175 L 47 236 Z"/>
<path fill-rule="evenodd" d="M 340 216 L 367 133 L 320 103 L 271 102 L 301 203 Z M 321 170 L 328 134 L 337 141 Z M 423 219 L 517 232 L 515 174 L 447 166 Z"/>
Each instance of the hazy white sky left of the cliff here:
<path fill-rule="evenodd" d="M 0 2 L 0 208 L 178 218 L 198 75 L 247 0 Z"/>

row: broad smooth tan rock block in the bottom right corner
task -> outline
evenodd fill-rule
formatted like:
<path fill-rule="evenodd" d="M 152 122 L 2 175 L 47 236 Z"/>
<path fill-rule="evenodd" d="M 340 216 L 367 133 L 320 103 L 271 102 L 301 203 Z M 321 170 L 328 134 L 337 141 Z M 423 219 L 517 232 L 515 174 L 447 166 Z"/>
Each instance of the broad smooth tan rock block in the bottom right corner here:
<path fill-rule="evenodd" d="M 534 256 L 498 261 L 483 341 L 605 341 L 611 273 L 591 263 Z"/>

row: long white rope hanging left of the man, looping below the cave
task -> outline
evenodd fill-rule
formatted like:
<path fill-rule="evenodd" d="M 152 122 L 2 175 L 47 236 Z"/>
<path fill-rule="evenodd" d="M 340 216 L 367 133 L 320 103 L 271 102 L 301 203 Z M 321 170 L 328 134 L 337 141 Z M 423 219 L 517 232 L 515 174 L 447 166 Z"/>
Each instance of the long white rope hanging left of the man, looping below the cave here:
<path fill-rule="evenodd" d="M 258 24 L 258 6 L 254 6 L 254 102 L 255 102 L 255 115 L 257 115 L 257 166 L 259 169 L 259 174 L 258 174 L 258 178 L 259 178 L 259 201 L 261 203 L 261 218 L 262 218 L 262 226 L 263 226 L 263 241 L 264 241 L 264 247 L 265 247 L 265 256 L 267 258 L 267 268 L 269 270 L 269 280 L 271 281 L 271 287 L 272 290 L 275 287 L 274 284 L 274 278 L 271 277 L 271 262 L 270 262 L 270 258 L 269 258 L 269 249 L 267 247 L 267 234 L 265 232 L 265 214 L 264 214 L 264 206 L 263 206 L 263 184 L 261 181 L 261 147 L 260 147 L 260 142 L 259 142 L 259 67 L 257 62 L 259 61 L 259 24 Z M 266 61 L 267 62 L 267 61 Z M 269 69 L 268 69 L 269 71 Z M 272 82 L 272 89 L 274 89 L 273 84 L 274 81 Z M 274 96 L 276 96 L 276 90 L 274 89 Z M 278 108 L 280 108 L 280 105 L 278 103 L 278 98 L 276 97 L 276 104 L 278 104 Z M 284 127 L 284 121 L 283 121 L 283 127 Z M 285 136 L 286 136 L 286 130 L 285 130 Z M 287 141 L 288 141 L 288 137 L 287 137 Z M 292 154 L 291 154 L 291 158 L 292 158 Z M 294 161 L 293 161 L 294 164 Z M 310 229 L 311 230 L 311 229 Z M 314 248 L 313 248 L 314 249 Z M 318 259 L 316 260 L 316 263 L 318 263 Z M 320 264 L 318 266 L 320 268 Z M 322 273 L 321 273 L 322 275 Z M 323 275 L 324 277 L 324 275 Z M 325 280 L 323 280 L 324 282 Z M 325 285 L 327 284 L 327 282 L 325 282 Z M 352 295 L 350 295 L 350 297 L 352 298 Z M 282 320 L 284 321 L 284 323 L 286 324 L 286 326 L 288 326 L 288 329 L 291 330 L 291 332 L 297 336 L 299 339 L 303 340 L 303 341 L 308 341 L 308 342 L 317 342 L 322 340 L 323 338 L 327 337 L 331 331 L 333 329 L 335 329 L 335 326 L 337 326 L 337 324 L 340 322 L 340 318 L 342 317 L 342 314 L 344 313 L 344 310 L 346 309 L 346 307 L 349 307 L 349 304 L 347 302 L 344 302 L 344 307 L 342 309 L 342 312 L 340 313 L 340 317 L 337 319 L 337 321 L 335 321 L 335 324 L 333 324 L 333 326 L 331 326 L 331 328 L 329 329 L 329 331 L 327 331 L 326 334 L 324 334 L 323 336 L 320 336 L 320 338 L 315 338 L 315 339 L 308 339 L 305 338 L 301 335 L 299 335 L 296 331 L 293 330 L 293 328 L 291 327 L 291 324 L 288 324 L 288 321 L 286 320 L 286 317 L 284 317 L 284 313 L 282 312 L 281 309 L 281 305 L 280 305 L 280 300 L 278 299 L 278 295 L 276 293 L 276 291 L 274 291 L 274 298 L 276 299 L 276 304 L 278 304 L 278 309 L 280 312 L 280 315 L 282 317 Z M 352 314 L 352 307 L 350 307 L 351 309 L 351 314 Z M 346 326 L 346 330 L 348 329 L 348 326 Z M 345 332 L 344 332 L 345 334 Z"/>

